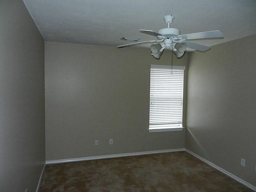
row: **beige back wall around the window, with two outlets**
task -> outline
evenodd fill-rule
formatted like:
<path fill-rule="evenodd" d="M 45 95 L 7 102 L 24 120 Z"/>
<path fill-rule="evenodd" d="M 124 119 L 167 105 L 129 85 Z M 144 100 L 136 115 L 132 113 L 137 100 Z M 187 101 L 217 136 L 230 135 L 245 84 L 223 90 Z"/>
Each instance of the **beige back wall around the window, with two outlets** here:
<path fill-rule="evenodd" d="M 184 131 L 148 132 L 150 64 L 171 59 L 167 50 L 161 60 L 150 54 L 45 42 L 46 160 L 184 148 Z"/>

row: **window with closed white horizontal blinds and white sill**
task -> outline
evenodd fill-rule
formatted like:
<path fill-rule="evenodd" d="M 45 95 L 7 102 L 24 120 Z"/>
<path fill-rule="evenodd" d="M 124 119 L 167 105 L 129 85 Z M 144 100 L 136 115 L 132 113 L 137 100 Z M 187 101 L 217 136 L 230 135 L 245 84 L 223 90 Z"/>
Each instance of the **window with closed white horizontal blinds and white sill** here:
<path fill-rule="evenodd" d="M 151 65 L 149 132 L 182 130 L 184 70 Z"/>

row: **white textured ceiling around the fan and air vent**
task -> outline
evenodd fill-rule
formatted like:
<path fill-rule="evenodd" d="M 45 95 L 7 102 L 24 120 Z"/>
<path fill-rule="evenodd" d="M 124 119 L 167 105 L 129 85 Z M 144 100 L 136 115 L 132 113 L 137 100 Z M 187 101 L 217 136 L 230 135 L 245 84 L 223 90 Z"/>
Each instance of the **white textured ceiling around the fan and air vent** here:
<path fill-rule="evenodd" d="M 130 43 L 121 41 L 123 36 L 157 40 L 139 29 L 166 28 L 163 17 L 170 14 L 175 17 L 171 27 L 181 34 L 224 34 L 223 39 L 193 41 L 206 46 L 256 34 L 256 0 L 23 1 L 45 41 L 117 46 Z"/>

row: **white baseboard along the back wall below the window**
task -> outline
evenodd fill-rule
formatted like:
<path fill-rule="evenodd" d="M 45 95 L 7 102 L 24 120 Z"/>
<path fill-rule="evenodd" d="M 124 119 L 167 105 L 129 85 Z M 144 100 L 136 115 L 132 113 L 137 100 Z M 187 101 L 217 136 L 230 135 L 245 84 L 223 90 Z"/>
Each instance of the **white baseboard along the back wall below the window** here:
<path fill-rule="evenodd" d="M 100 155 L 100 156 L 60 159 L 60 160 L 50 160 L 50 161 L 46 161 L 46 164 L 86 161 L 86 160 L 95 160 L 95 159 L 106 159 L 106 158 L 115 158 L 115 157 L 127 157 L 127 156 L 146 155 L 146 154 L 155 154 L 155 153 L 168 153 L 168 152 L 176 152 L 176 151 L 185 151 L 185 148 L 134 152 L 134 153 L 122 153 L 122 154 L 113 154 L 113 155 Z"/>

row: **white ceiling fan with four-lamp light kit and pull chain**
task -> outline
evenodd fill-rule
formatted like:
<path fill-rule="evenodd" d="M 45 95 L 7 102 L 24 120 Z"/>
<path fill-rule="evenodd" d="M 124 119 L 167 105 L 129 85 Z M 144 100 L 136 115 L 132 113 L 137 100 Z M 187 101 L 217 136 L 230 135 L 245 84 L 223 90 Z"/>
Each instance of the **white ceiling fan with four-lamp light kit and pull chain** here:
<path fill-rule="evenodd" d="M 192 48 L 194 50 L 201 51 L 201 52 L 205 52 L 210 49 L 210 47 L 208 46 L 189 42 L 187 40 L 224 37 L 222 32 L 220 32 L 219 30 L 180 35 L 180 30 L 175 28 L 170 28 L 170 24 L 172 23 L 173 20 L 174 20 L 174 16 L 172 15 L 164 16 L 164 21 L 168 25 L 168 28 L 160 29 L 158 30 L 158 32 L 154 32 L 152 30 L 140 29 L 140 32 L 148 35 L 156 36 L 159 40 L 136 42 L 136 43 L 130 43 L 125 45 L 119 45 L 117 47 L 122 48 L 122 47 L 127 47 L 132 45 L 158 42 L 158 44 L 152 44 L 150 46 L 152 55 L 155 58 L 157 59 L 160 58 L 160 55 L 162 54 L 164 49 L 173 50 L 173 52 L 176 54 L 176 57 L 180 58 L 186 51 L 187 47 Z"/>

